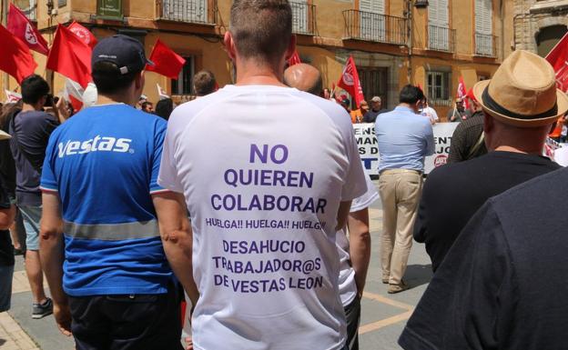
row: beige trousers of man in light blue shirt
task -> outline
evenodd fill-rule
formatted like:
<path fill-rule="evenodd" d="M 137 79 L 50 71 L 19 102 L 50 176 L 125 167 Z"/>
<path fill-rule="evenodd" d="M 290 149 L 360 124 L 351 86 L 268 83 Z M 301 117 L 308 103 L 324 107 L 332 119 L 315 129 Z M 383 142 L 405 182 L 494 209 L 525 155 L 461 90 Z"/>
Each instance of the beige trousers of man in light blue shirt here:
<path fill-rule="evenodd" d="M 392 169 L 380 173 L 382 278 L 400 285 L 411 254 L 412 230 L 422 193 L 422 175 L 414 170 Z"/>

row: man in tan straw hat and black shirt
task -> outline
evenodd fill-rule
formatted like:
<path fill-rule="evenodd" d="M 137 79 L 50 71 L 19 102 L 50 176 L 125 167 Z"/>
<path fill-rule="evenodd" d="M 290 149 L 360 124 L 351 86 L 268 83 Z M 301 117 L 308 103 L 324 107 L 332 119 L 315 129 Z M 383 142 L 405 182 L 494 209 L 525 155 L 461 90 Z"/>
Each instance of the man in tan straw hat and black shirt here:
<path fill-rule="evenodd" d="M 513 69 L 515 75 L 509 73 Z M 525 85 L 515 85 L 516 81 Z M 475 85 L 474 93 L 483 108 L 485 144 L 491 152 L 444 165 L 428 176 L 414 239 L 426 244 L 434 271 L 487 199 L 560 167 L 542 152 L 551 126 L 566 110 L 566 97 L 563 93 L 556 97 L 553 68 L 543 58 L 525 51 L 513 53 L 491 81 Z M 512 95 L 527 97 L 508 98 Z"/>

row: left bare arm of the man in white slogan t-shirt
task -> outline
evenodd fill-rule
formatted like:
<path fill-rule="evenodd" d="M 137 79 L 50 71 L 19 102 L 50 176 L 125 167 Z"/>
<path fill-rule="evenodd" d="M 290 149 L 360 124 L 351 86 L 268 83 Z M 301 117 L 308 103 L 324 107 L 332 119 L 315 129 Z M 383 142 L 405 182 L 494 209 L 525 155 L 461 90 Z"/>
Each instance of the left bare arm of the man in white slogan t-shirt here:
<path fill-rule="evenodd" d="M 198 303 L 198 287 L 191 261 L 193 235 L 184 196 L 167 191 L 152 195 L 167 261 L 183 285 L 193 305 Z"/>

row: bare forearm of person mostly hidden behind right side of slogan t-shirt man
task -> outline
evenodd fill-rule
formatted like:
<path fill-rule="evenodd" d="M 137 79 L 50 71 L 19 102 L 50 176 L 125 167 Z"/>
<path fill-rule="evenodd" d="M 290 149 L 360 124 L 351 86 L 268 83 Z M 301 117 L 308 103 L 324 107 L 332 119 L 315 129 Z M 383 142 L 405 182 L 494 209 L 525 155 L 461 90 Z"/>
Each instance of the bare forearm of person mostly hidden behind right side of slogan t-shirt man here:
<path fill-rule="evenodd" d="M 350 213 L 347 221 L 350 233 L 350 260 L 355 271 L 357 292 L 363 295 L 370 262 L 369 209 Z"/>

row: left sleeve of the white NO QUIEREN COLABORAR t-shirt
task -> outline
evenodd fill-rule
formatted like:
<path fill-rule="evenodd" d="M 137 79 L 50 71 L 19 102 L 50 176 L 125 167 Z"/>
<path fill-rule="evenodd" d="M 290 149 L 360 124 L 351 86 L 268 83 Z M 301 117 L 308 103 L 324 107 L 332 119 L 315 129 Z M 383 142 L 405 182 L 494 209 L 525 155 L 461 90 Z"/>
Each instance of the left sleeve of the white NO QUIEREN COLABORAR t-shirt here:
<path fill-rule="evenodd" d="M 167 123 L 167 132 L 166 138 L 164 139 L 164 146 L 162 147 L 162 161 L 160 163 L 159 175 L 157 176 L 157 184 L 170 191 L 183 194 L 183 186 L 179 181 L 177 163 L 174 157 L 177 148 L 177 138 L 180 134 L 179 129 L 182 127 L 182 125 L 176 123 L 177 118 L 175 115 L 177 115 L 176 112 L 180 111 L 181 109 L 174 111 Z"/>

